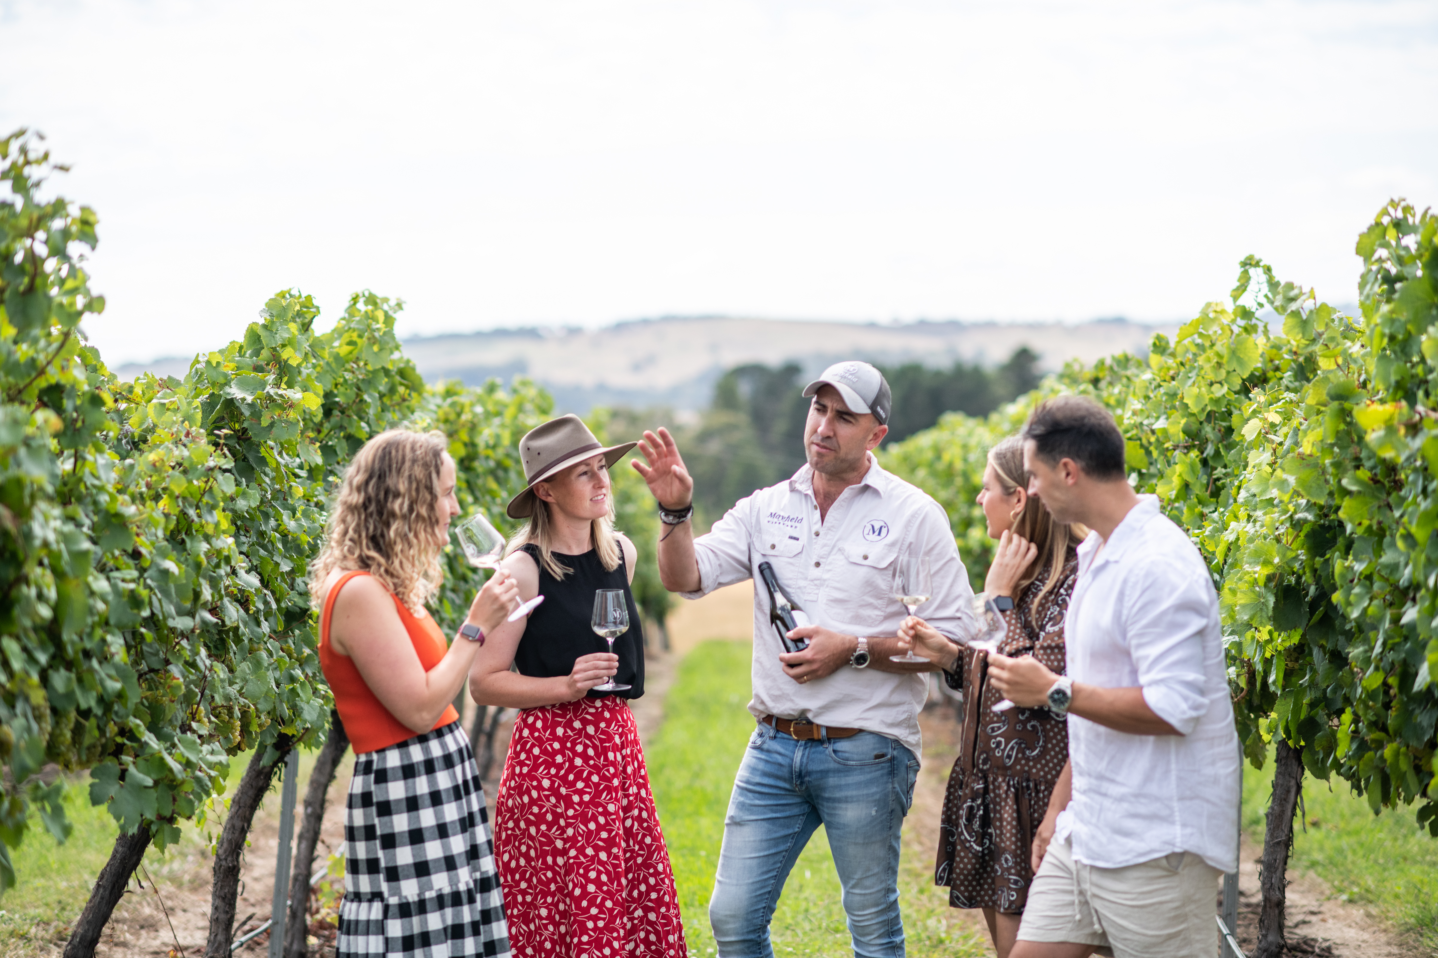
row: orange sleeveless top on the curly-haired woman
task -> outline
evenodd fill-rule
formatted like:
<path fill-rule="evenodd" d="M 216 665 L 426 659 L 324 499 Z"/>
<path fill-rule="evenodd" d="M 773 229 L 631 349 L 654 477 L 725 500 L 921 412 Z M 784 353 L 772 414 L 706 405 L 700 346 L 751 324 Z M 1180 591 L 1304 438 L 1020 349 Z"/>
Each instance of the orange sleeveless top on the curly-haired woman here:
<path fill-rule="evenodd" d="M 347 572 L 339 576 L 335 585 L 329 586 L 325 609 L 319 616 L 319 668 L 329 682 L 329 691 L 335 694 L 335 708 L 339 711 L 339 720 L 345 724 L 345 733 L 349 735 L 349 745 L 355 754 L 378 751 L 420 734 L 391 715 L 390 710 L 375 698 L 364 676 L 360 675 L 360 669 L 355 668 L 354 659 L 329 646 L 329 618 L 335 609 L 335 597 L 347 582 L 355 576 L 368 575 L 368 572 Z M 394 608 L 400 613 L 404 631 L 410 633 L 410 642 L 414 645 L 416 655 L 420 656 L 420 665 L 424 666 L 426 672 L 430 671 L 440 664 L 444 652 L 449 651 L 444 633 L 440 632 L 434 619 L 429 616 L 417 619 L 394 595 L 390 597 L 394 599 Z M 454 711 L 453 705 L 447 705 L 444 714 L 434 722 L 434 728 L 457 721 L 459 712 Z"/>

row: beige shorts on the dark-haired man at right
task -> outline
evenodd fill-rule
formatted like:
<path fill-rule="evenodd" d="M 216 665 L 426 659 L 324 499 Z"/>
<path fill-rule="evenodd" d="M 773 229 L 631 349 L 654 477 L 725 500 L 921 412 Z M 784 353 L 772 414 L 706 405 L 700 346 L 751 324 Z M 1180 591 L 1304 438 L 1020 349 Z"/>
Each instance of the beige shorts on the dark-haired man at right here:
<path fill-rule="evenodd" d="M 1112 958 L 1214 958 L 1219 870 L 1192 852 L 1093 868 L 1054 842 L 1028 888 L 1020 941 L 1097 945 Z"/>

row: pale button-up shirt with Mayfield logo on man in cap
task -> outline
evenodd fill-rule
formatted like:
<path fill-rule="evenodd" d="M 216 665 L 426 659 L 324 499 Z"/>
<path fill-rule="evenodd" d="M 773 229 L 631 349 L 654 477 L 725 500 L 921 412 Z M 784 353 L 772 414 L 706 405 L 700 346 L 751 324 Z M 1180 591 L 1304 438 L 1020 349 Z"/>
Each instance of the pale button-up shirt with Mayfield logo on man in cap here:
<path fill-rule="evenodd" d="M 755 580 L 749 701 L 755 718 L 778 715 L 861 728 L 896 738 L 919 757 L 919 710 L 929 691 L 928 675 L 843 665 L 800 685 L 779 662 L 784 646 L 769 623 L 768 592 L 759 585 L 759 563 L 768 562 L 814 625 L 890 636 L 909 615 L 893 597 L 894 557 L 910 552 L 929 556 L 933 575 L 933 596 L 919 615 L 949 638 L 966 635 L 974 590 L 943 507 L 870 455 L 864 478 L 840 493 L 821 521 L 814 471 L 804 465 L 791 478 L 741 498 L 695 540 L 700 586 L 682 595 L 697 599 Z"/>

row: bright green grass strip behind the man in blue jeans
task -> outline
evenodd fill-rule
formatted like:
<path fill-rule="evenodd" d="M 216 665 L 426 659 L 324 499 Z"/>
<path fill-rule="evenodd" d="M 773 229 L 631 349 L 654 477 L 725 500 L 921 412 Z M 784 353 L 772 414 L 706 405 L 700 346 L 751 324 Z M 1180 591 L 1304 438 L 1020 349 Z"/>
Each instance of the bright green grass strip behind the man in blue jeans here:
<path fill-rule="evenodd" d="M 680 664 L 669 691 L 664 725 L 646 747 L 659 817 L 674 865 L 684 935 L 690 954 L 697 957 L 713 954 L 709 893 L 729 790 L 754 731 L 754 718 L 745 711 L 751 649 L 738 642 L 706 642 L 695 648 Z M 919 834 L 925 827 L 932 830 L 933 823 L 919 819 L 910 814 L 905 822 L 899 876 L 907 952 L 945 958 L 991 954 L 974 926 L 948 908 L 943 890 L 933 888 L 930 836 Z M 775 955 L 851 955 L 838 896 L 828 840 L 820 829 L 794 866 L 774 915 Z"/>

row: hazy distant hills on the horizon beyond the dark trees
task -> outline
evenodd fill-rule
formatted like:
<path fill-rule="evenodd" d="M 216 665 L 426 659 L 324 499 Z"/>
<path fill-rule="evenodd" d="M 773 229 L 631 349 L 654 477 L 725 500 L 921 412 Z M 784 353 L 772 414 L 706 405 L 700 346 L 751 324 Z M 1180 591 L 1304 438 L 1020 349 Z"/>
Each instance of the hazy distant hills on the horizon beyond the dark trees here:
<path fill-rule="evenodd" d="M 1173 335 L 1178 323 L 1125 319 L 1087 323 L 840 323 L 733 317 L 644 319 L 600 329 L 502 329 L 417 336 L 406 353 L 429 381 L 479 383 L 490 376 L 526 375 L 542 382 L 561 411 L 595 405 L 654 406 L 676 411 L 709 404 L 715 381 L 743 363 L 794 361 L 818 372 L 838 359 L 880 363 L 920 362 L 946 368 L 955 361 L 998 365 L 1020 346 L 1040 355 L 1044 369 L 1068 359 L 1093 362 L 1120 350 L 1145 352 L 1153 333 Z M 144 371 L 184 375 L 187 359 L 157 359 L 116 368 L 125 378 Z"/>

